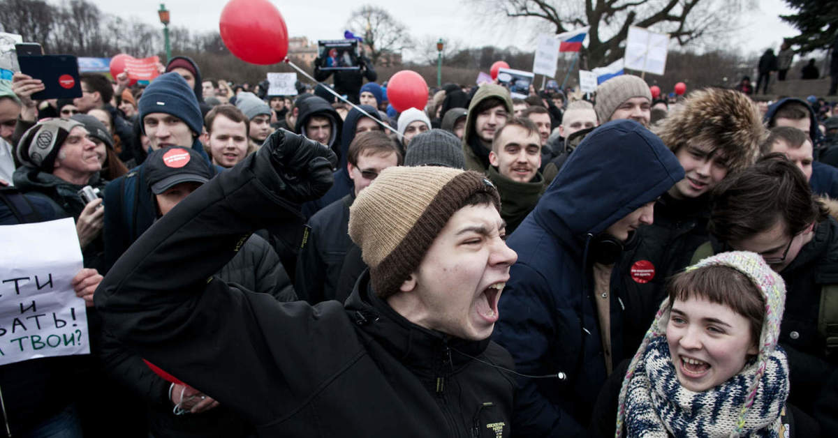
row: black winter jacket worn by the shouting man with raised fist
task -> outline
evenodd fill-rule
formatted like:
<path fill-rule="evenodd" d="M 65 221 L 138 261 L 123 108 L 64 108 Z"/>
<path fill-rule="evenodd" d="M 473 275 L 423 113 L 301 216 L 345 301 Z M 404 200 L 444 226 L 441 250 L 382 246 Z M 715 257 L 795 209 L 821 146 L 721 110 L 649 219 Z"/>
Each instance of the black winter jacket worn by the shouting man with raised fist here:
<path fill-rule="evenodd" d="M 515 384 L 494 364 L 511 359 L 489 339 L 408 322 L 367 277 L 346 307 L 280 303 L 211 277 L 253 229 L 300 219 L 266 149 L 184 199 L 116 262 L 95 296 L 106 326 L 261 436 L 509 436 Z"/>

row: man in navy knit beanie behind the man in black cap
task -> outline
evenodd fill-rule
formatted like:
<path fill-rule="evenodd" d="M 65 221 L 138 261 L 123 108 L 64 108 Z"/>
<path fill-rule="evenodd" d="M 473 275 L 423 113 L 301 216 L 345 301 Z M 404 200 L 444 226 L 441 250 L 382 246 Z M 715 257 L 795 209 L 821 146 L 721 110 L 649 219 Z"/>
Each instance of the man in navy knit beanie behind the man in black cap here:
<path fill-rule="evenodd" d="M 158 76 L 142 92 L 138 106 L 140 130 L 150 142 L 151 150 L 148 152 L 167 146 L 191 147 L 209 162 L 209 155 L 199 141 L 199 135 L 204 131 L 204 118 L 195 99 L 195 91 L 189 88 L 183 76 L 178 73 Z M 161 129 L 163 125 L 165 129 Z M 143 178 L 144 162 L 116 178 L 105 189 L 103 234 L 106 268 L 156 218 L 152 193 L 145 184 L 137 183 Z"/>

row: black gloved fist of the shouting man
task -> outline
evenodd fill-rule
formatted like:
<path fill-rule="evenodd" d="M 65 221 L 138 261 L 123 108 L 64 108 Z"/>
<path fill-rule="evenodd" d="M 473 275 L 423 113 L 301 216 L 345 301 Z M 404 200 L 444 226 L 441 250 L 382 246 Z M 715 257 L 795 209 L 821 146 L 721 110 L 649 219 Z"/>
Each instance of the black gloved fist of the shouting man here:
<path fill-rule="evenodd" d="M 338 157 L 328 147 L 284 129 L 267 137 L 261 150 L 282 179 L 280 191 L 289 200 L 303 203 L 320 198 L 334 183 Z"/>

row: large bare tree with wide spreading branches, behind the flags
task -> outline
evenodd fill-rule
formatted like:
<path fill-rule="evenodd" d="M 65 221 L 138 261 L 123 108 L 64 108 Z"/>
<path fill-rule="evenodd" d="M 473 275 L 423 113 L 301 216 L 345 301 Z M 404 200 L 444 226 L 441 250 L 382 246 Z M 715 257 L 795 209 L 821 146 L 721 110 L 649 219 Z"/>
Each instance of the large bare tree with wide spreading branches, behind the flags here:
<path fill-rule="evenodd" d="M 553 33 L 590 26 L 589 45 L 582 49 L 588 68 L 623 56 L 630 26 L 669 33 L 685 45 L 707 35 L 732 30 L 753 0 L 493 0 L 486 11 L 503 17 L 530 18 Z"/>

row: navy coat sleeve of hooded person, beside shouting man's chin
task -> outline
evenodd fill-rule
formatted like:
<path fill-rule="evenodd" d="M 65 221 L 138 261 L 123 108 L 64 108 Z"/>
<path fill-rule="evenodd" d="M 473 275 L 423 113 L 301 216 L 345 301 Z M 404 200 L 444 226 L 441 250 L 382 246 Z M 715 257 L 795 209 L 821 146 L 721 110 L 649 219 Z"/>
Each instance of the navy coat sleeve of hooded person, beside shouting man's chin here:
<path fill-rule="evenodd" d="M 515 359 L 522 374 L 555 374 L 551 345 L 558 336 L 551 309 L 556 307 L 546 278 L 528 265 L 510 270 L 500 301 L 500 319 L 493 338 Z M 567 371 L 567 370 L 561 370 Z M 518 378 L 512 430 L 519 436 L 574 436 L 583 433 L 572 416 L 551 402 L 546 393 L 561 391 L 555 379 Z"/>

